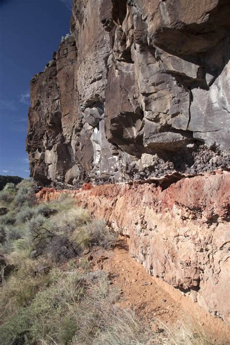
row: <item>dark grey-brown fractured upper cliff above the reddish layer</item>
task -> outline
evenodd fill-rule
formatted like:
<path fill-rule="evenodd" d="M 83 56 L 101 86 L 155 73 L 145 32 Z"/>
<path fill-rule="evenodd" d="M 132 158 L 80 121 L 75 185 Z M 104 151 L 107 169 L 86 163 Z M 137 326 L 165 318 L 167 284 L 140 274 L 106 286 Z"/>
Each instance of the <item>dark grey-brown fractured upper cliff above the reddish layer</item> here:
<path fill-rule="evenodd" d="M 229 166 L 228 0 L 75 0 L 72 37 L 31 81 L 27 151 L 78 187 Z"/>

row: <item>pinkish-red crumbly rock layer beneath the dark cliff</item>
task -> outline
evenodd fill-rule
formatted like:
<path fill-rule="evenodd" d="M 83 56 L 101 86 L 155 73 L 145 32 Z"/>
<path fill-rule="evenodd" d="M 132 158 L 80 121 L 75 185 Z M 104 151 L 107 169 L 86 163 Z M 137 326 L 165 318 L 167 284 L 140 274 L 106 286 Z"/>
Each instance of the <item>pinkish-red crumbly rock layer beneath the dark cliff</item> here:
<path fill-rule="evenodd" d="M 64 192 L 129 236 L 131 256 L 150 275 L 230 324 L 230 173 L 183 178 L 164 190 L 148 183 L 91 187 Z M 44 188 L 37 197 L 47 201 L 62 192 Z"/>

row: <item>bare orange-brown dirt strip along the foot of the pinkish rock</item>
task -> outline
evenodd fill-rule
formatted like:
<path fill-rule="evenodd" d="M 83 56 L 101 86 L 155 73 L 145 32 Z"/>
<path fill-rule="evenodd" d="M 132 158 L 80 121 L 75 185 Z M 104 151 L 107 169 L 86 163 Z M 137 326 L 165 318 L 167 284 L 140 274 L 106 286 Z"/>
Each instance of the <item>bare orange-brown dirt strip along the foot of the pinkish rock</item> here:
<path fill-rule="evenodd" d="M 120 306 L 136 311 L 153 330 L 162 328 L 161 323 L 172 326 L 178 320 L 190 326 L 199 323 L 214 342 L 223 340 L 224 344 L 230 344 L 230 328 L 221 319 L 207 313 L 162 279 L 149 276 L 144 267 L 130 257 L 128 243 L 120 241 L 115 250 L 103 254 L 99 251 L 93 256 L 95 269 L 107 271 L 112 283 L 121 289 Z M 108 258 L 103 259 L 103 256 Z"/>

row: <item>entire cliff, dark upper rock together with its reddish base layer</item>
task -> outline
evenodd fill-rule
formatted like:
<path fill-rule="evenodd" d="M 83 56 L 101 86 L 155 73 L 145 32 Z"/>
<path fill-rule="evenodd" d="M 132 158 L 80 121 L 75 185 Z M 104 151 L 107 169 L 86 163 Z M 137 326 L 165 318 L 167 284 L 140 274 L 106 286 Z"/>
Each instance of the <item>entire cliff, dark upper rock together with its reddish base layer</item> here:
<path fill-rule="evenodd" d="M 229 16 L 229 0 L 74 0 L 72 35 L 31 81 L 27 136 L 35 181 L 227 323 Z"/>

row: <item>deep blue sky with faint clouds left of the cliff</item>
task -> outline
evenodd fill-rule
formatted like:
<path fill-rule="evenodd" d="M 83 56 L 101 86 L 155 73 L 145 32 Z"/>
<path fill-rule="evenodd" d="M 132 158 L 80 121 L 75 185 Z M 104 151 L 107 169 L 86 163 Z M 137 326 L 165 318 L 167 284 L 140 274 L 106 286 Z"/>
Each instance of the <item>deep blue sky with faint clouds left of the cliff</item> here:
<path fill-rule="evenodd" d="M 69 32 L 72 0 L 0 0 L 0 175 L 29 176 L 30 80 Z"/>

